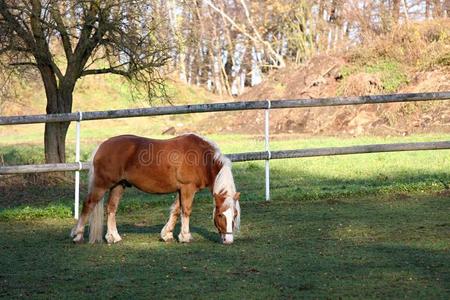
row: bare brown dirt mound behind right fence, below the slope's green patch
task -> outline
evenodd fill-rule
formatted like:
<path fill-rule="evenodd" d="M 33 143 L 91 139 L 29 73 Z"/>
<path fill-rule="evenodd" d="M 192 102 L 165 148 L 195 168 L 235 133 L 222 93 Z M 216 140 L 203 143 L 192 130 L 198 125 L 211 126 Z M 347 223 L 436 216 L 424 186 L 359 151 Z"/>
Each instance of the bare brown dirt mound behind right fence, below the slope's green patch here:
<path fill-rule="evenodd" d="M 342 57 L 317 56 L 299 68 L 273 71 L 259 86 L 248 88 L 236 101 L 263 99 L 300 99 L 334 97 L 338 94 L 358 96 L 382 94 L 377 73 L 359 72 L 342 81 L 346 61 Z M 450 90 L 450 68 L 420 72 L 410 76 L 399 92 Z M 197 130 L 210 132 L 215 116 L 199 124 Z M 221 114 L 221 127 L 214 131 L 261 133 L 263 111 Z M 226 124 L 226 125 L 225 125 Z M 407 135 L 421 132 L 450 132 L 448 101 L 280 109 L 271 112 L 270 126 L 274 133 L 325 135 Z"/>

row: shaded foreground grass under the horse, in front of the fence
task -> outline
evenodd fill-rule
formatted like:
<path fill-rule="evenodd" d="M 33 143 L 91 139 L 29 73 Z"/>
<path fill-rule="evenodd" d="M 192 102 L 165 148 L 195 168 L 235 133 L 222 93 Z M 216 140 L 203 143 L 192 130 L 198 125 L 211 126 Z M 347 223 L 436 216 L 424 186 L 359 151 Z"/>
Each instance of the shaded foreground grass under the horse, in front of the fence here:
<path fill-rule="evenodd" d="M 0 221 L 0 296 L 448 299 L 449 207 L 448 196 L 243 201 L 231 246 L 209 201 L 194 207 L 188 245 L 159 241 L 167 203 L 119 214 L 112 246 L 71 244 L 70 219 Z"/>

